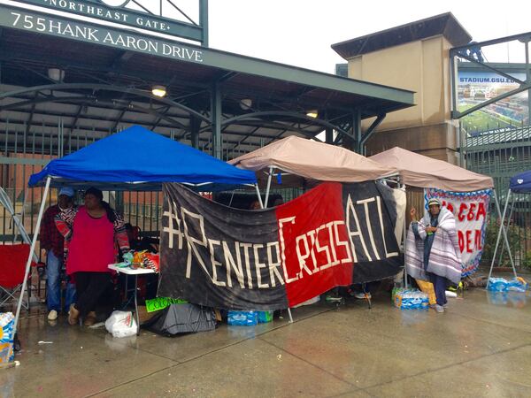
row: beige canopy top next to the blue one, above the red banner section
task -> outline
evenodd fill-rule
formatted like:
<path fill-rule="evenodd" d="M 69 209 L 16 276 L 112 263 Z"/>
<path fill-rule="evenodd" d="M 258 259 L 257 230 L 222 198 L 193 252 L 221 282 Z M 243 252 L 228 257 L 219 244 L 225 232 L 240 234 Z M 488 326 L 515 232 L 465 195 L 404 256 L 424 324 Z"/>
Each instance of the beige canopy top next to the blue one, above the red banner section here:
<path fill-rule="evenodd" d="M 284 185 L 307 180 L 359 182 L 396 174 L 396 168 L 381 165 L 348 149 L 290 136 L 229 161 L 259 172 L 273 166 L 293 176 L 283 177 Z M 263 179 L 264 173 L 258 173 Z M 298 182 L 299 186 L 300 181 Z"/>

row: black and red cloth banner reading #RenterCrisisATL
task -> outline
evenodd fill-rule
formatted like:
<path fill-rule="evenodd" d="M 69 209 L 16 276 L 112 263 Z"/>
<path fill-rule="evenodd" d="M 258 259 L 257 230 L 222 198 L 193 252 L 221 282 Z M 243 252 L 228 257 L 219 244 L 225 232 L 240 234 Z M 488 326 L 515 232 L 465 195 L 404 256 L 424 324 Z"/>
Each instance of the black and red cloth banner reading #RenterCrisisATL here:
<path fill-rule="evenodd" d="M 278 310 L 395 275 L 392 190 L 327 182 L 266 210 L 213 203 L 164 184 L 158 295 L 233 310 Z"/>

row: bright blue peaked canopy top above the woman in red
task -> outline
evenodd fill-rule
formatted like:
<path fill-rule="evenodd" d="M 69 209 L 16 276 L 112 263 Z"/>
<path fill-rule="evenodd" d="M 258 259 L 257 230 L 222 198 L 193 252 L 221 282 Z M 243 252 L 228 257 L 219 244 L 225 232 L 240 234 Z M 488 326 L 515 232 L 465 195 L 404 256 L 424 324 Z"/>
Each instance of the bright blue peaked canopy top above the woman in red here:
<path fill-rule="evenodd" d="M 162 182 L 225 187 L 254 184 L 254 172 L 241 170 L 200 150 L 141 126 L 127 128 L 73 154 L 50 161 L 33 174 L 29 187 L 95 186 L 105 190 L 159 190 Z M 203 185 L 204 184 L 204 185 Z"/>

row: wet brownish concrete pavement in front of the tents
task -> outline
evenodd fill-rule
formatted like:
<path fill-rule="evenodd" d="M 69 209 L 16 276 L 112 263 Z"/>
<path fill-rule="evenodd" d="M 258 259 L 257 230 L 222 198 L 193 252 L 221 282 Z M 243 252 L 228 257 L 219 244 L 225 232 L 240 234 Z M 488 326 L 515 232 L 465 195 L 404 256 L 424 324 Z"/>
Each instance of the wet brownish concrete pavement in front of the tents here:
<path fill-rule="evenodd" d="M 4 396 L 531 396 L 531 296 L 466 291 L 444 314 L 389 294 L 293 310 L 295 323 L 174 338 L 50 325 L 32 310 Z M 50 344 L 38 344 L 51 341 Z"/>

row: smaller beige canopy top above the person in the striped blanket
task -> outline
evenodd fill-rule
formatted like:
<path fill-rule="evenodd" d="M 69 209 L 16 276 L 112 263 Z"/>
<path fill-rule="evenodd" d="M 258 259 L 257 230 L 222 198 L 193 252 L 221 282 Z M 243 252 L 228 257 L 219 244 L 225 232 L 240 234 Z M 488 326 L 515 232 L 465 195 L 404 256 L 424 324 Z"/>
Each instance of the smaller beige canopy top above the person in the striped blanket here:
<path fill-rule="evenodd" d="M 470 172 L 443 160 L 425 157 L 395 147 L 372 157 L 382 165 L 396 167 L 405 185 L 418 188 L 439 188 L 453 192 L 472 192 L 494 188 L 494 181 L 482 174 Z"/>

